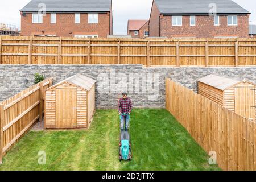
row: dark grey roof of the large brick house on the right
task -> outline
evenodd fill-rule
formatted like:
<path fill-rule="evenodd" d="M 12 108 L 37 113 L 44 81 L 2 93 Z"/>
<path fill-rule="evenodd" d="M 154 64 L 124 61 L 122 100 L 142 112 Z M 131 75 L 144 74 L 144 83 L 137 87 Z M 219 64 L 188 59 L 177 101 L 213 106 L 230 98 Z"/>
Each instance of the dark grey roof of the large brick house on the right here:
<path fill-rule="evenodd" d="M 232 0 L 155 0 L 160 14 L 209 14 L 212 3 L 217 14 L 249 14 Z"/>

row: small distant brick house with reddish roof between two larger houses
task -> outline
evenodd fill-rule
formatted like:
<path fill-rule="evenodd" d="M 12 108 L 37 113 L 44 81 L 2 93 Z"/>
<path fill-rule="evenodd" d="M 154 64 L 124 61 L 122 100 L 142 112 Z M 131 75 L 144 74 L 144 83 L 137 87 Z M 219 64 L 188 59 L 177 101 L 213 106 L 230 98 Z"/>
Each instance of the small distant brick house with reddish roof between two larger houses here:
<path fill-rule="evenodd" d="M 128 20 L 127 35 L 132 38 L 148 37 L 148 20 Z"/>

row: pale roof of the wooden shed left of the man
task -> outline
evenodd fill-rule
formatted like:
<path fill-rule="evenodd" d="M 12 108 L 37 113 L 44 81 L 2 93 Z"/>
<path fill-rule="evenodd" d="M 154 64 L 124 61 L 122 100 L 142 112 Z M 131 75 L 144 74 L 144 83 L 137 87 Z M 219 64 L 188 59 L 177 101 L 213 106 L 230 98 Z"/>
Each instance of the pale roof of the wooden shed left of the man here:
<path fill-rule="evenodd" d="M 65 79 L 65 80 L 63 80 L 63 81 L 61 81 L 61 82 L 51 86 L 47 90 L 55 88 L 56 86 L 64 84 L 65 82 L 68 82 L 70 84 L 79 86 L 80 88 L 89 91 L 92 88 L 92 86 L 96 83 L 96 80 L 93 80 L 92 78 L 86 77 L 86 76 L 81 75 L 81 74 L 77 74 L 77 75 L 69 77 L 69 78 L 67 78 L 67 79 Z"/>

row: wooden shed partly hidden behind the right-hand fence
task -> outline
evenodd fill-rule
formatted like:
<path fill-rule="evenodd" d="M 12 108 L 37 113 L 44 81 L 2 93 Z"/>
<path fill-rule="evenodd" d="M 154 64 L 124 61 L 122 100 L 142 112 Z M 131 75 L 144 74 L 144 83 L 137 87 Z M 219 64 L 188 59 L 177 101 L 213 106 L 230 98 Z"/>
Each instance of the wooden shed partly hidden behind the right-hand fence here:
<path fill-rule="evenodd" d="M 209 75 L 198 80 L 199 94 L 254 121 L 255 88 L 252 82 L 219 75 Z"/>

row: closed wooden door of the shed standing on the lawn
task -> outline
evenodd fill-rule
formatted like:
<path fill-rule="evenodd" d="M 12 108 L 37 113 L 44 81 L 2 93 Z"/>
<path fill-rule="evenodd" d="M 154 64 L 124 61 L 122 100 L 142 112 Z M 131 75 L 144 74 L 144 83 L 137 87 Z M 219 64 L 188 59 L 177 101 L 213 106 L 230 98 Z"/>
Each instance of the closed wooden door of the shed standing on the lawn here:
<path fill-rule="evenodd" d="M 77 127 L 76 93 L 77 88 L 56 89 L 56 128 L 70 129 Z"/>

